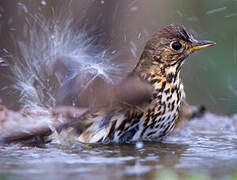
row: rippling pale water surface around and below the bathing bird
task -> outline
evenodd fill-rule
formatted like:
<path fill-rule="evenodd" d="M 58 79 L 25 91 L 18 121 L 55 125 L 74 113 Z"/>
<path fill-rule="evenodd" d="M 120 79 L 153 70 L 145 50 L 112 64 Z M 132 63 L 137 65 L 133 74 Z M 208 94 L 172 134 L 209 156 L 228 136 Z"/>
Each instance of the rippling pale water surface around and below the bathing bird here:
<path fill-rule="evenodd" d="M 0 147 L 0 179 L 155 179 L 164 168 L 228 179 L 237 167 L 236 122 L 235 116 L 207 113 L 165 142 L 143 146 L 4 145 Z"/>

